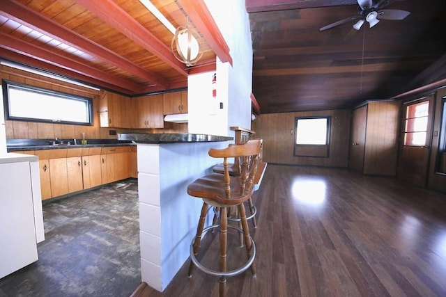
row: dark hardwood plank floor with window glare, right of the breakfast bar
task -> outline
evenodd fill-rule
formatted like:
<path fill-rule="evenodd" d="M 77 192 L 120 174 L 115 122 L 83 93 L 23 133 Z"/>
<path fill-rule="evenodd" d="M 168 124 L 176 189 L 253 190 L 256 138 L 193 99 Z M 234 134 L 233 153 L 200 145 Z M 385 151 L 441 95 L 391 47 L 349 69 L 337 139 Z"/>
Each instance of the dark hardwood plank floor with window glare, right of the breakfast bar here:
<path fill-rule="evenodd" d="M 253 200 L 257 275 L 229 278 L 227 296 L 446 296 L 446 195 L 350 170 L 269 164 Z M 216 252 L 218 237 L 207 237 L 202 250 Z M 188 264 L 163 293 L 135 295 L 218 296 L 217 278 L 197 269 L 187 278 Z"/>

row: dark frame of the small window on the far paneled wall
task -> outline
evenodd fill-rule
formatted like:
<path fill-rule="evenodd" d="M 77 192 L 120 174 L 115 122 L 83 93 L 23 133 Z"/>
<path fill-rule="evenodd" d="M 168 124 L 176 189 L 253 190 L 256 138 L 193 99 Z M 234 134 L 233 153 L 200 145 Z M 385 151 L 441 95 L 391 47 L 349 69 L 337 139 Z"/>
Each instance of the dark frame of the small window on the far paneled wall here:
<path fill-rule="evenodd" d="M 325 135 L 325 145 L 316 144 L 298 144 L 298 121 L 299 120 L 313 120 L 313 119 L 326 119 L 327 120 L 327 131 Z M 294 142 L 294 156 L 311 156 L 315 158 L 328 158 L 330 157 L 330 131 L 331 131 L 331 116 L 330 115 L 318 115 L 318 116 L 299 116 L 295 117 L 294 120 L 294 131 L 295 136 L 293 137 Z"/>

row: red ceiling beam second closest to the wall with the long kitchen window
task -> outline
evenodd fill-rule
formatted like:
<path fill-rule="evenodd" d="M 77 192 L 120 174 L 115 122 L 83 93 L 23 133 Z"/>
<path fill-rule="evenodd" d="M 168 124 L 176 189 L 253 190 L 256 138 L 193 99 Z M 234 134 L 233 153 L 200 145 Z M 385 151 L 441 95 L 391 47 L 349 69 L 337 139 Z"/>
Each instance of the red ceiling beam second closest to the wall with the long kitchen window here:
<path fill-rule="evenodd" d="M 105 81 L 107 83 L 111 83 L 112 85 L 120 86 L 121 88 L 125 88 L 127 90 L 134 91 L 141 88 L 141 86 L 139 86 L 139 84 L 137 83 L 132 83 L 130 81 L 126 81 L 125 79 L 113 77 L 112 75 L 109 75 L 105 72 L 79 63 L 70 58 L 65 58 L 59 54 L 53 53 L 52 51 L 48 51 L 47 49 L 37 47 L 36 45 L 33 45 L 29 42 L 25 42 L 17 38 L 12 38 L 10 37 L 10 35 L 7 35 L 5 33 L 0 33 L 0 40 L 0 47 L 2 47 L 3 49 L 15 51 L 16 53 L 23 54 L 31 58 L 36 58 L 40 61 L 56 65 L 57 67 L 65 68 L 84 76 L 90 76 L 100 81 Z"/>

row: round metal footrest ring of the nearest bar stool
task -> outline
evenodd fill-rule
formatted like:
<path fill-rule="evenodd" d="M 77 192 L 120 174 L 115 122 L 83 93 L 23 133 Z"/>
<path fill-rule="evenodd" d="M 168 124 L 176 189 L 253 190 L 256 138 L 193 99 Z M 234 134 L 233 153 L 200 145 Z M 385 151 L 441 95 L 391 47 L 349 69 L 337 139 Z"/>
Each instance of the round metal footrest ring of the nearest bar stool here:
<path fill-rule="evenodd" d="M 201 240 L 204 238 L 204 235 L 206 234 L 206 232 L 208 232 L 209 230 L 215 229 L 215 228 L 219 228 L 219 227 L 220 227 L 220 225 L 210 225 L 209 227 L 204 228 L 203 233 L 201 235 Z M 229 227 L 233 230 L 237 230 L 238 232 L 243 234 L 243 230 L 240 229 L 239 227 L 236 227 L 233 225 L 228 225 L 227 227 Z M 252 244 L 251 245 L 251 249 L 252 249 L 251 257 L 249 257 L 249 259 L 247 260 L 247 262 L 245 264 L 243 264 L 242 266 L 240 266 L 236 269 L 233 269 L 231 271 L 215 271 L 215 270 L 207 268 L 206 266 L 201 264 L 198 261 L 197 257 L 195 257 L 195 255 L 194 255 L 194 241 L 192 241 L 192 244 L 190 245 L 190 259 L 191 259 L 192 263 L 194 263 L 194 265 L 199 268 L 199 270 L 203 271 L 203 273 L 216 276 L 217 278 L 230 278 L 232 276 L 239 275 L 240 273 L 243 273 L 244 271 L 246 271 L 247 268 L 249 268 L 252 265 L 252 263 L 254 262 L 254 258 L 256 257 L 256 245 L 254 244 L 254 240 L 252 239 L 251 236 L 249 236 L 249 239 L 251 240 L 251 244 Z"/>

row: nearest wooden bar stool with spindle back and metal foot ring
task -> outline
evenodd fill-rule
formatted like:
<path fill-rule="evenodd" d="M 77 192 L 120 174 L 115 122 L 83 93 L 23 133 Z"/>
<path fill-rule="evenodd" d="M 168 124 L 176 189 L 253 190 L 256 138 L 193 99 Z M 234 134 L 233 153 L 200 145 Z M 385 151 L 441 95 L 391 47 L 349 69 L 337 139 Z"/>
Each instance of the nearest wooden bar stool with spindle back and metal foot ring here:
<path fill-rule="evenodd" d="M 256 275 L 254 258 L 256 248 L 254 240 L 249 235 L 244 202 L 249 200 L 254 192 L 254 178 L 256 174 L 259 154 L 261 152 L 262 142 L 259 139 L 248 141 L 243 145 L 230 145 L 222 150 L 210 149 L 209 155 L 214 158 L 223 158 L 224 174 L 211 173 L 195 180 L 187 186 L 187 193 L 197 198 L 203 199 L 201 215 L 197 227 L 197 234 L 190 247 L 190 266 L 187 275 L 190 277 L 194 266 L 209 275 L 220 278 L 220 296 L 226 296 L 226 278 L 238 275 L 251 268 L 252 275 Z M 241 164 L 240 176 L 229 175 L 228 158 L 240 157 L 243 159 Z M 206 214 L 209 207 L 218 207 L 220 209 L 220 223 L 204 227 Z M 242 228 L 228 225 L 227 209 L 237 207 L 240 215 Z M 242 266 L 227 271 L 226 253 L 227 253 L 227 229 L 235 229 L 243 234 L 247 252 L 247 262 Z M 215 271 L 203 266 L 198 260 L 197 255 L 202 237 L 209 230 L 220 229 L 220 270 Z"/>

